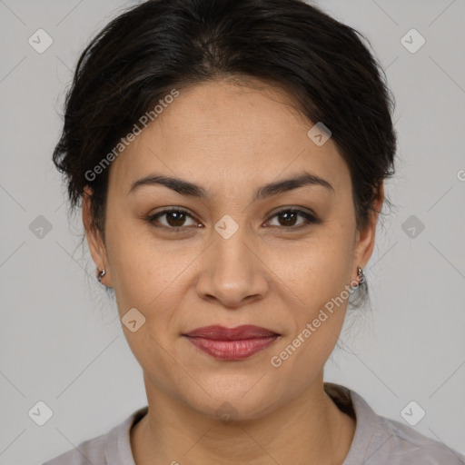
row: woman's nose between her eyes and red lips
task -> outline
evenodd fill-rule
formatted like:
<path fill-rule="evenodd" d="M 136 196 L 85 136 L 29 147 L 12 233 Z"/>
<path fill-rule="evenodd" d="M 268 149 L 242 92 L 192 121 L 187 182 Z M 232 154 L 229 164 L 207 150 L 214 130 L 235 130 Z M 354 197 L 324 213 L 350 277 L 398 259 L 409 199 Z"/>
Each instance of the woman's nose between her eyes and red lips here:
<path fill-rule="evenodd" d="M 270 280 L 260 240 L 252 240 L 245 227 L 229 238 L 213 231 L 212 242 L 199 259 L 197 292 L 203 299 L 230 310 L 261 300 Z"/>

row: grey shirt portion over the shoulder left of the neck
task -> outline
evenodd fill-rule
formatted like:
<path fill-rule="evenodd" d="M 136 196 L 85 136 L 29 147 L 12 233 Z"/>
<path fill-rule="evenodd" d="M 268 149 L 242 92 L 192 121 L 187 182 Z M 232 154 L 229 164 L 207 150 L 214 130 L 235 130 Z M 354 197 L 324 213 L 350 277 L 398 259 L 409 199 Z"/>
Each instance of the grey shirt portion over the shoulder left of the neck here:
<path fill-rule="evenodd" d="M 84 440 L 74 449 L 67 450 L 42 465 L 135 465 L 130 430 L 147 411 L 147 406 L 134 411 L 112 430 Z"/>

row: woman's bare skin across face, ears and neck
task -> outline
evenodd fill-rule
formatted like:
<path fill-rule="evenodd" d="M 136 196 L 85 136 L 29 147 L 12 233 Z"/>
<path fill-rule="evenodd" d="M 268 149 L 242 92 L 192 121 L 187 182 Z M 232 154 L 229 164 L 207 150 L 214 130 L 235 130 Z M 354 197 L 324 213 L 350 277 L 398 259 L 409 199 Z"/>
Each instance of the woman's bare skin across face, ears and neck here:
<path fill-rule="evenodd" d="M 378 215 L 357 231 L 347 164 L 331 139 L 312 142 L 313 124 L 290 102 L 259 82 L 180 89 L 110 167 L 105 243 L 92 227 L 86 190 L 85 233 L 95 265 L 106 270 L 102 282 L 114 288 L 121 318 L 134 307 L 145 318 L 134 332 L 123 325 L 149 405 L 131 430 L 137 465 L 341 464 L 350 449 L 355 420 L 323 391 L 347 301 L 280 367 L 270 360 L 356 282 Z M 312 185 L 252 202 L 262 184 L 302 171 L 334 192 Z M 210 197 L 162 185 L 128 194 L 150 173 L 199 184 Z M 382 201 L 381 183 L 377 211 Z M 146 221 L 173 206 L 191 217 L 165 214 L 158 224 L 166 229 Z M 301 215 L 293 223 L 276 215 L 297 207 L 321 222 L 297 229 L 307 223 Z M 214 229 L 225 214 L 239 227 L 229 239 Z M 175 225 L 183 232 L 168 229 Z M 281 336 L 247 359 L 221 361 L 182 336 L 210 324 L 254 324 Z M 237 413 L 229 422 L 215 414 L 226 401 Z"/>

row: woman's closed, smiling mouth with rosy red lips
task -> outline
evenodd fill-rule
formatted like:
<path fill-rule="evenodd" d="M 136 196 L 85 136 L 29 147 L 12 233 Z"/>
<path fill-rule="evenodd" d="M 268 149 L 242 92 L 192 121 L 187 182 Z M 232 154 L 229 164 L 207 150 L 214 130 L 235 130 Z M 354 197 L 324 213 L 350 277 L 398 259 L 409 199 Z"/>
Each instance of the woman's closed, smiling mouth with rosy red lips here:
<path fill-rule="evenodd" d="M 205 326 L 183 334 L 195 347 L 215 359 L 242 360 L 266 349 L 281 334 L 253 325 L 236 328 Z"/>

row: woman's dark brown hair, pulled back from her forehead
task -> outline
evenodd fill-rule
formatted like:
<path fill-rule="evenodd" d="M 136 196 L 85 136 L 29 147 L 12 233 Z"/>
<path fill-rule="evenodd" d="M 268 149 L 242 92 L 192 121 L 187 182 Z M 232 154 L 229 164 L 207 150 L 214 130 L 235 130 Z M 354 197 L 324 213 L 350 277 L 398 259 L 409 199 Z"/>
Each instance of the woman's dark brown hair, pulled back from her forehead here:
<path fill-rule="evenodd" d="M 104 237 L 109 169 L 93 180 L 85 173 L 173 88 L 254 77 L 284 88 L 303 115 L 331 130 L 351 172 L 361 229 L 381 181 L 394 173 L 396 151 L 393 97 L 362 38 L 301 0 L 149 0 L 131 7 L 84 49 L 66 95 L 53 160 L 71 210 L 88 185 Z"/>

